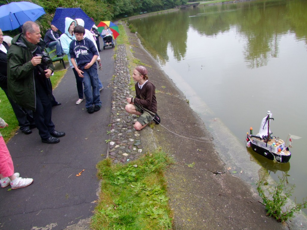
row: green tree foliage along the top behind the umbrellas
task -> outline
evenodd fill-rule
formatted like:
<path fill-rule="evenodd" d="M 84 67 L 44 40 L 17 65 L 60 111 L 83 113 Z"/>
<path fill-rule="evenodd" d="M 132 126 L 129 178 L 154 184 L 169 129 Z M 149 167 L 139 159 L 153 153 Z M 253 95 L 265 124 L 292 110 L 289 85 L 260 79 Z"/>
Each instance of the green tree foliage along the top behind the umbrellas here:
<path fill-rule="evenodd" d="M 20 2 L 21 0 L 8 0 L 9 2 Z M 96 25 L 100 21 L 113 21 L 125 15 L 132 16 L 140 12 L 154 12 L 174 8 L 177 5 L 186 4 L 186 0 L 25 0 L 42 6 L 46 12 L 36 22 L 41 26 L 42 36 L 47 29 L 58 7 L 77 8 L 80 7 L 89 17 L 93 17 Z M 7 4 L 6 0 L 0 0 L 0 5 Z M 14 31 L 5 31 L 6 35 L 16 35 Z"/>

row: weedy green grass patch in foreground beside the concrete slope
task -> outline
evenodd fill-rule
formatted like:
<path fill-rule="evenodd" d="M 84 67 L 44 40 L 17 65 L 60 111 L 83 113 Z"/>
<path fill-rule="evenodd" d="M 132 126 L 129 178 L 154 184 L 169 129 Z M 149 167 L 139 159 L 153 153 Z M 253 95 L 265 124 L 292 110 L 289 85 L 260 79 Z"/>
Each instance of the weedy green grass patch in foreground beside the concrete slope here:
<path fill-rule="evenodd" d="M 172 229 L 164 172 L 173 158 L 158 149 L 127 164 L 107 158 L 97 164 L 102 179 L 92 229 Z"/>

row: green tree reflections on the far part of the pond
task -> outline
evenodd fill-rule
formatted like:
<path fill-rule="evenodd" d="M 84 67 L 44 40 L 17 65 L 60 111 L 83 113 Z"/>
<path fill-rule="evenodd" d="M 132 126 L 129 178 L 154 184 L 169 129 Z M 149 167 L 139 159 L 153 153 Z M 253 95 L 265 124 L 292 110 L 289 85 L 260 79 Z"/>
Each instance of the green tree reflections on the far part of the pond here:
<path fill-rule="evenodd" d="M 142 35 L 146 48 L 154 50 L 153 55 L 161 65 L 169 60 L 168 49 L 178 62 L 185 58 L 189 34 L 214 37 L 235 26 L 239 39 L 245 42 L 243 56 L 247 67 L 252 69 L 266 66 L 270 59 L 278 56 L 282 34 L 293 33 L 307 44 L 306 9 L 305 0 L 200 5 L 193 10 L 136 19 L 130 23 Z M 204 41 L 198 42 L 196 46 Z"/>

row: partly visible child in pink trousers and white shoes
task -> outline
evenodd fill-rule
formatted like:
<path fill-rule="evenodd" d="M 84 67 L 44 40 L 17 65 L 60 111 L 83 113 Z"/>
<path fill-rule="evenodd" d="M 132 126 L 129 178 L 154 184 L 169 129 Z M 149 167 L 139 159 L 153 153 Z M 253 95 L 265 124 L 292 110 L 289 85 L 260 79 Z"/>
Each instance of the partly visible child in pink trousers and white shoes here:
<path fill-rule="evenodd" d="M 0 117 L 0 128 L 7 127 L 8 124 Z M 19 173 L 14 173 L 13 160 L 6 147 L 0 132 L 0 184 L 1 188 L 11 185 L 12 189 L 23 188 L 33 182 L 32 178 L 21 178 Z"/>

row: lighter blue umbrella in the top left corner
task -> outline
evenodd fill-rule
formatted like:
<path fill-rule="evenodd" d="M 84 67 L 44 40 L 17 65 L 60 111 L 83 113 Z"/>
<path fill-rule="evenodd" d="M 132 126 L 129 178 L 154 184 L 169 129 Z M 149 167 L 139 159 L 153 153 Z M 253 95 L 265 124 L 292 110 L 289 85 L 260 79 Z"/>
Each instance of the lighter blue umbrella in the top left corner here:
<path fill-rule="evenodd" d="M 26 21 L 36 21 L 43 14 L 44 8 L 32 2 L 11 2 L 0 6 L 0 28 L 2 31 L 17 29 Z"/>

